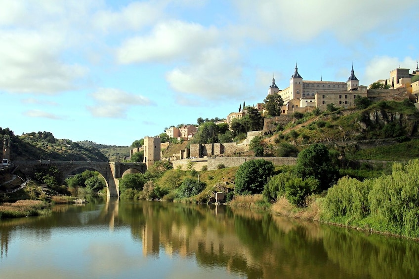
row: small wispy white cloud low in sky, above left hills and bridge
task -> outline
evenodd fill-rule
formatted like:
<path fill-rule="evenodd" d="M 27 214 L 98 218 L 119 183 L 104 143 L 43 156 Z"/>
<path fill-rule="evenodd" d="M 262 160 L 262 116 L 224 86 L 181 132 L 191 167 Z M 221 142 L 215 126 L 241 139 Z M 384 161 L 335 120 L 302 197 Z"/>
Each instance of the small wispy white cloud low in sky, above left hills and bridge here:
<path fill-rule="evenodd" d="M 115 88 L 100 88 L 90 94 L 96 100 L 95 106 L 87 106 L 94 117 L 126 118 L 127 110 L 132 106 L 154 105 L 142 95 L 127 93 Z"/>

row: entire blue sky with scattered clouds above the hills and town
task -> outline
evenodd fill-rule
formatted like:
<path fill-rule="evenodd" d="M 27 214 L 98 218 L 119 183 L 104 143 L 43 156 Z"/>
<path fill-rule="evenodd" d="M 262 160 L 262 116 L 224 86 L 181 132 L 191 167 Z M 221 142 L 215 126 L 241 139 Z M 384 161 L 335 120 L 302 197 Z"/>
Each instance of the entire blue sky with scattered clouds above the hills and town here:
<path fill-rule="evenodd" d="M 411 0 L 0 0 L 0 127 L 129 146 L 262 103 L 275 77 L 416 69 Z"/>

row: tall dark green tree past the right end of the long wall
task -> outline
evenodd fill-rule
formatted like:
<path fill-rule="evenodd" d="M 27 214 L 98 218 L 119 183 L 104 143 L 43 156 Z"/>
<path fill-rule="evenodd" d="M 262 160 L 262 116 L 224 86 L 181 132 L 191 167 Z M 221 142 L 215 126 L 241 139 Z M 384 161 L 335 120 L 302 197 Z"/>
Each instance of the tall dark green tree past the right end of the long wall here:
<path fill-rule="evenodd" d="M 333 164 L 324 144 L 313 144 L 298 154 L 295 172 L 301 178 L 314 177 L 321 181 L 318 191 L 327 190 L 338 178 L 338 168 Z"/>

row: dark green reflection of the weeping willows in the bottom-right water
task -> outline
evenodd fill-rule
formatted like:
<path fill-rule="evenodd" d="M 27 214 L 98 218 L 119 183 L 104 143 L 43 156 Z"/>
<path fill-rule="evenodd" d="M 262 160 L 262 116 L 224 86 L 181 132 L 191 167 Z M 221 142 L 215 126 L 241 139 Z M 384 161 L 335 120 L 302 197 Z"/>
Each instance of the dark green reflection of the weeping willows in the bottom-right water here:
<path fill-rule="evenodd" d="M 328 227 L 325 249 L 348 273 L 370 278 L 419 278 L 419 243 Z"/>

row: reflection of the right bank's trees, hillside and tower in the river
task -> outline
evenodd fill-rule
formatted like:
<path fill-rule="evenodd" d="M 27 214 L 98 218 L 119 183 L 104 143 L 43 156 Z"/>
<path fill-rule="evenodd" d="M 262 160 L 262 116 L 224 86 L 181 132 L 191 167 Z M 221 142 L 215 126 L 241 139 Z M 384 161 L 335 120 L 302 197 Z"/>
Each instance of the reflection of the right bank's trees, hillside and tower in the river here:
<path fill-rule="evenodd" d="M 419 278 L 419 243 L 404 239 L 196 204 L 135 202 L 119 216 L 145 255 L 163 249 L 247 278 Z"/>

